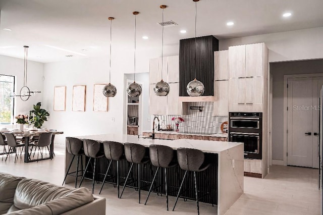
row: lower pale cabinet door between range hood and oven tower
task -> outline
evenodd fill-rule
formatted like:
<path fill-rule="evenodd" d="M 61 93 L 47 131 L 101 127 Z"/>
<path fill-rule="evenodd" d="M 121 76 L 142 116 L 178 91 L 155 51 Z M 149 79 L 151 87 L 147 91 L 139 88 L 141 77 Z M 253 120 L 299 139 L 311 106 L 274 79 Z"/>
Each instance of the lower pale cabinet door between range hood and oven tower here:
<path fill-rule="evenodd" d="M 229 80 L 214 81 L 213 116 L 229 114 Z"/>

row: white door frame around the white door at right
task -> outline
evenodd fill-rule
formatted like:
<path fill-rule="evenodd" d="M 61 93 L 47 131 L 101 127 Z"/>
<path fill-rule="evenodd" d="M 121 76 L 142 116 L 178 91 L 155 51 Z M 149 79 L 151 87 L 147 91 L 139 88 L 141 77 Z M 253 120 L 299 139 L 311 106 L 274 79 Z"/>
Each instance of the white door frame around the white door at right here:
<path fill-rule="evenodd" d="M 322 73 L 313 73 L 313 74 L 297 74 L 297 75 L 284 75 L 284 166 L 287 166 L 287 82 L 289 78 L 317 78 L 323 77 Z"/>

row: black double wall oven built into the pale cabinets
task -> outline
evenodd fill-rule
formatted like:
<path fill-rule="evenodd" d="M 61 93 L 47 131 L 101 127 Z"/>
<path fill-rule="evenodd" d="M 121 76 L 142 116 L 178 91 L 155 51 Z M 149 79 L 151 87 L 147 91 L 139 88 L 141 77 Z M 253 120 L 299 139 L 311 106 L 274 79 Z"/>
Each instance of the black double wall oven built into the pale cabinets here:
<path fill-rule="evenodd" d="M 229 141 L 244 143 L 244 157 L 261 159 L 262 113 L 229 113 Z"/>

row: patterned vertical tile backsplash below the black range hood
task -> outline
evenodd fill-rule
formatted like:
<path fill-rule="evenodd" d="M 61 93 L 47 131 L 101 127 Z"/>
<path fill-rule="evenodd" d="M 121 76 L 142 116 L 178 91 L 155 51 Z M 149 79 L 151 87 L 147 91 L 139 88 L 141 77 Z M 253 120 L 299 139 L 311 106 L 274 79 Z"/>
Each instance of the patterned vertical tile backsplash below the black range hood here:
<path fill-rule="evenodd" d="M 167 125 L 171 125 L 175 131 L 176 125 L 172 118 L 181 117 L 184 119 L 184 122 L 179 125 L 179 131 L 182 133 L 217 134 L 222 133 L 221 124 L 228 121 L 228 116 L 213 117 L 213 102 L 185 102 L 183 107 L 187 109 L 183 110 L 186 115 L 155 115 L 160 120 L 160 128 L 166 128 Z"/>

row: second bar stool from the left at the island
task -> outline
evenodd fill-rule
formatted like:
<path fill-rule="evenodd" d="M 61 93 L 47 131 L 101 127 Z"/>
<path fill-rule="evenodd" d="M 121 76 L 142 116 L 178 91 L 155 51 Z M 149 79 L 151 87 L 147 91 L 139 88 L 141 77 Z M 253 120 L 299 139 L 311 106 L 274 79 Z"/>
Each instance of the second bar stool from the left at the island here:
<path fill-rule="evenodd" d="M 92 177 L 92 193 L 94 193 L 95 163 L 96 163 L 97 158 L 104 156 L 104 152 L 102 150 L 100 150 L 101 143 L 99 143 L 95 140 L 83 139 L 83 148 L 84 148 L 85 156 L 89 157 L 89 161 L 87 162 L 87 165 L 85 167 L 85 171 L 83 173 L 79 187 L 81 187 L 86 170 L 89 167 L 91 159 L 93 158 L 94 159 L 94 166 L 93 166 L 93 177 Z"/>

